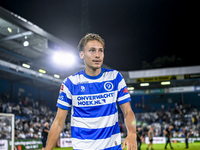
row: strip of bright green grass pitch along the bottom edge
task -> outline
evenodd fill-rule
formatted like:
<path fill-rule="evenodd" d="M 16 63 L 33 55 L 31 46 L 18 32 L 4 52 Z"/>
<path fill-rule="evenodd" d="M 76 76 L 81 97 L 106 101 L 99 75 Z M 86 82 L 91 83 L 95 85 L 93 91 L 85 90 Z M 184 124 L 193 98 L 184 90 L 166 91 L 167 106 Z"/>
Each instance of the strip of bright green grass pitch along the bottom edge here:
<path fill-rule="evenodd" d="M 174 150 L 185 150 L 185 143 L 172 143 Z M 147 144 L 142 144 L 141 150 L 146 150 Z M 154 144 L 154 150 L 164 150 L 165 144 Z M 151 148 L 149 147 L 149 150 Z M 167 145 L 167 149 L 170 150 L 170 146 Z M 73 150 L 73 148 L 54 148 L 54 150 Z M 125 148 L 126 150 L 126 148 Z M 187 150 L 200 150 L 200 143 L 189 143 Z"/>

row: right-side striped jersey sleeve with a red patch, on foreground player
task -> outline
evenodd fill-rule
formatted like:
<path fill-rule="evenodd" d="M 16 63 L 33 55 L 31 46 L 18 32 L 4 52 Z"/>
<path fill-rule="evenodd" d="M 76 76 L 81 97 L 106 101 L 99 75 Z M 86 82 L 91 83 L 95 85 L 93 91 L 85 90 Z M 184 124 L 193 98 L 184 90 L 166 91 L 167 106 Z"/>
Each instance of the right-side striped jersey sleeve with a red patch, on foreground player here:
<path fill-rule="evenodd" d="M 131 101 L 125 80 L 120 73 L 118 73 L 117 75 L 117 81 L 118 81 L 118 94 L 117 94 L 118 104 L 121 105 Z"/>

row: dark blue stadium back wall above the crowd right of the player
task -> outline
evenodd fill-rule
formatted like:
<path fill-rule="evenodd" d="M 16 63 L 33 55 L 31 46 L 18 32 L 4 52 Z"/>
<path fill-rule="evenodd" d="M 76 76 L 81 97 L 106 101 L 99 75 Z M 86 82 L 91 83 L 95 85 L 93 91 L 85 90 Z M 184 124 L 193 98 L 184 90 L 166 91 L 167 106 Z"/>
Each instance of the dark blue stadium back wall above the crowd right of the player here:
<path fill-rule="evenodd" d="M 200 94 L 198 92 L 190 93 L 168 93 L 168 94 L 149 94 L 149 95 L 131 95 L 131 105 L 136 113 L 165 110 L 168 107 L 175 107 L 175 103 L 190 104 L 191 108 L 200 108 Z"/>

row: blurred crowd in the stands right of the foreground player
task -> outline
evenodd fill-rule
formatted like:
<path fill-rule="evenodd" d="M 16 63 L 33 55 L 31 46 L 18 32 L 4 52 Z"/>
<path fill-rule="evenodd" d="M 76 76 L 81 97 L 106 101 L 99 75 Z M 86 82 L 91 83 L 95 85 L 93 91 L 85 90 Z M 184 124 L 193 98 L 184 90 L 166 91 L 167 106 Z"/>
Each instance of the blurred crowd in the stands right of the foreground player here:
<path fill-rule="evenodd" d="M 190 132 L 190 137 L 200 137 L 200 111 L 187 104 L 176 103 L 174 107 L 166 109 L 161 105 L 161 109 L 152 113 L 135 114 L 137 126 L 142 127 L 143 136 L 151 126 L 154 126 L 155 136 L 165 136 L 164 130 L 172 125 L 173 137 L 184 137 L 182 128 Z"/>

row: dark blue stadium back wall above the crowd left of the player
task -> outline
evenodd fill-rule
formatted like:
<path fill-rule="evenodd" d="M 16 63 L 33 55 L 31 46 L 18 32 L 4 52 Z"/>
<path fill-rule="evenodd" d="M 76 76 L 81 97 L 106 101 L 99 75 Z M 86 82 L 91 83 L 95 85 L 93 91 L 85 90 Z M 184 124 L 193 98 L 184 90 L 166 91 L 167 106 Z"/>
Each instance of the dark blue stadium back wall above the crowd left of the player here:
<path fill-rule="evenodd" d="M 4 99 L 4 95 L 9 95 L 6 101 L 18 103 L 19 96 L 22 98 L 28 97 L 34 101 L 38 101 L 45 106 L 49 106 L 51 110 L 56 109 L 56 101 L 58 98 L 58 91 L 48 91 L 45 89 L 19 84 L 9 80 L 0 79 L 0 96 Z"/>

